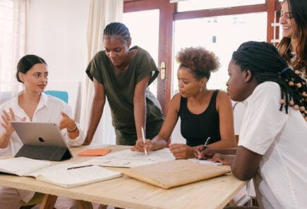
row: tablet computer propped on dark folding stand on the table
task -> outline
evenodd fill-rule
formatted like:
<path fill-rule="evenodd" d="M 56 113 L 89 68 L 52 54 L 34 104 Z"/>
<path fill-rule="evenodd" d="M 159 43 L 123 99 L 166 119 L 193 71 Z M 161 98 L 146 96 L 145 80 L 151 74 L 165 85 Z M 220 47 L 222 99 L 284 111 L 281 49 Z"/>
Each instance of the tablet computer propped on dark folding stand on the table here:
<path fill-rule="evenodd" d="M 67 160 L 72 154 L 55 122 L 11 121 L 23 142 L 15 157 L 40 160 Z"/>

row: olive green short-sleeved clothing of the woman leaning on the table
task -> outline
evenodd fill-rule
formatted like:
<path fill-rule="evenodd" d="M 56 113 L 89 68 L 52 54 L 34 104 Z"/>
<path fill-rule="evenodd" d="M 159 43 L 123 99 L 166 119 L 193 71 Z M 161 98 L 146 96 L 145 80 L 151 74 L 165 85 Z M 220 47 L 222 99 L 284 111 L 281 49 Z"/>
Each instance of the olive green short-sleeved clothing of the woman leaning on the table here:
<path fill-rule="evenodd" d="M 138 52 L 124 72 L 115 72 L 105 51 L 99 51 L 86 69 L 91 80 L 95 77 L 97 82 L 104 85 L 112 113 L 112 124 L 116 131 L 116 144 L 121 145 L 136 143 L 136 124 L 133 115 L 133 94 L 136 84 L 150 74 L 149 85 L 159 74 L 155 61 L 147 51 L 138 46 L 131 49 L 137 49 Z M 149 89 L 146 89 L 145 97 L 146 138 L 152 139 L 158 134 L 164 116 L 159 101 Z"/>

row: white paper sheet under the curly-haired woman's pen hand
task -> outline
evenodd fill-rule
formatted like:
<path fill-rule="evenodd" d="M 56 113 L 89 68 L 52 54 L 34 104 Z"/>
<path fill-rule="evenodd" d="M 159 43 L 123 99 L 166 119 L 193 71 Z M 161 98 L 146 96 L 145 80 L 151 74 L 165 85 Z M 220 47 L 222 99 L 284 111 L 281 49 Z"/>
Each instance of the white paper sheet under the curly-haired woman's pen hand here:
<path fill-rule="evenodd" d="M 107 156 L 101 156 L 88 160 L 87 163 L 94 165 L 110 167 L 137 167 L 140 165 L 149 165 L 168 160 L 175 160 L 169 148 L 163 148 L 157 151 L 145 153 L 133 152 L 130 149 L 109 153 Z"/>

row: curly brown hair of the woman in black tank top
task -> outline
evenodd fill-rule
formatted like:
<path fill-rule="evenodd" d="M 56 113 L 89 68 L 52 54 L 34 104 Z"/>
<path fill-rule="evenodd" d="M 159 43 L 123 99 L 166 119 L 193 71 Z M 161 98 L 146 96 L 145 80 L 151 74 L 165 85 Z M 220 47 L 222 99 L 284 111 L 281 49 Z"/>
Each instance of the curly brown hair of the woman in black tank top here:
<path fill-rule="evenodd" d="M 209 80 L 210 72 L 215 72 L 219 68 L 219 61 L 215 53 L 201 46 L 181 49 L 177 53 L 176 61 L 180 63 L 179 68 L 188 68 L 198 80 L 203 77 Z"/>

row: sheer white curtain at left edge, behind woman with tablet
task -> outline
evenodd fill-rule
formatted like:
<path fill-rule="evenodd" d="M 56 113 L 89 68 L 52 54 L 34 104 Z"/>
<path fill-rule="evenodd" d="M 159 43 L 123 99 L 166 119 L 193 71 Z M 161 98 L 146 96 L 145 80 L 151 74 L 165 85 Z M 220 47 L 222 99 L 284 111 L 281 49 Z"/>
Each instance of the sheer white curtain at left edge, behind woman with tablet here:
<path fill-rule="evenodd" d="M 10 97 L 20 90 L 15 75 L 17 63 L 25 53 L 27 8 L 28 0 L 0 1 L 0 92 L 11 94 Z"/>

